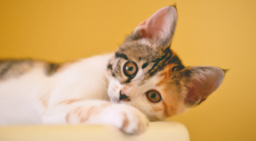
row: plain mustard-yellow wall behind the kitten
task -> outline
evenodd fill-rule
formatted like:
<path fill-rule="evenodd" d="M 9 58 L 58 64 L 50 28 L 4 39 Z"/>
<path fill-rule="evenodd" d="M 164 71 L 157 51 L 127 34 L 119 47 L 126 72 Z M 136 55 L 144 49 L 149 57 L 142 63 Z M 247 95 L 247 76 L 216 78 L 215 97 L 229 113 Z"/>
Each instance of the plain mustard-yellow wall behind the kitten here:
<path fill-rule="evenodd" d="M 173 3 L 172 49 L 183 63 L 230 71 L 206 102 L 169 120 L 188 127 L 192 141 L 256 140 L 255 0 L 0 0 L 0 58 L 63 62 L 113 52 Z"/>

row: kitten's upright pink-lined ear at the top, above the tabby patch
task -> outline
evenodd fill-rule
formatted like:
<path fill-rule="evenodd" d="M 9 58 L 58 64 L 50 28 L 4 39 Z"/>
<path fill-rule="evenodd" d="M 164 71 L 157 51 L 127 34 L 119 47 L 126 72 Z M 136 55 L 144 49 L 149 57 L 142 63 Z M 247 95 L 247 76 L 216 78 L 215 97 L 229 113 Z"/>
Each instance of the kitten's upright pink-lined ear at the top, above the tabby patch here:
<path fill-rule="evenodd" d="M 129 40 L 146 40 L 158 47 L 169 46 L 177 23 L 174 6 L 160 8 L 148 20 L 144 20 L 128 37 Z"/>

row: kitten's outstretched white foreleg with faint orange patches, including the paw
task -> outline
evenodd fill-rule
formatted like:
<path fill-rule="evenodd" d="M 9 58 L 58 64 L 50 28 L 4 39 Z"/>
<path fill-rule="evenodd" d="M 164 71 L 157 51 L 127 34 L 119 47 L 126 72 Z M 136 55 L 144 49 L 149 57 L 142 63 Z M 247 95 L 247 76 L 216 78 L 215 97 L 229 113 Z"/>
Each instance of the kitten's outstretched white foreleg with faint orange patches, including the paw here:
<path fill-rule="evenodd" d="M 43 122 L 110 124 L 128 134 L 143 133 L 148 127 L 148 118 L 136 108 L 100 100 L 67 100 L 55 104 L 45 111 Z"/>

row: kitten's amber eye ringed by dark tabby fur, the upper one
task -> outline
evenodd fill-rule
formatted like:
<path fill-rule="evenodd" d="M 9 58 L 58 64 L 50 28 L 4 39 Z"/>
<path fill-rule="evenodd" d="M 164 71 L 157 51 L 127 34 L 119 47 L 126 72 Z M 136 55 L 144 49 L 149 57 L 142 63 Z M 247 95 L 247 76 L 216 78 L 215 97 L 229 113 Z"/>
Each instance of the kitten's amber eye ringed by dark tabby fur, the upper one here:
<path fill-rule="evenodd" d="M 124 70 L 125 76 L 133 78 L 137 74 L 137 65 L 130 60 L 125 63 L 123 70 Z"/>

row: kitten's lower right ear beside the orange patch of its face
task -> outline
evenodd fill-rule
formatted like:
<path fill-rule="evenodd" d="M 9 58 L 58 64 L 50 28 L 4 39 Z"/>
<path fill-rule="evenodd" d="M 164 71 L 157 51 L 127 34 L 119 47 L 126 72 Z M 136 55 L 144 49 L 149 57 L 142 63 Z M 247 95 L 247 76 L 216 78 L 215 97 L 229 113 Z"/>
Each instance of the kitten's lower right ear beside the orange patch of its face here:
<path fill-rule="evenodd" d="M 189 107 L 201 104 L 219 87 L 225 72 L 214 66 L 193 66 L 183 69 L 182 80 L 188 90 L 185 104 Z"/>

